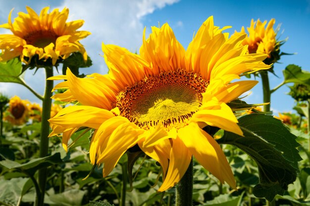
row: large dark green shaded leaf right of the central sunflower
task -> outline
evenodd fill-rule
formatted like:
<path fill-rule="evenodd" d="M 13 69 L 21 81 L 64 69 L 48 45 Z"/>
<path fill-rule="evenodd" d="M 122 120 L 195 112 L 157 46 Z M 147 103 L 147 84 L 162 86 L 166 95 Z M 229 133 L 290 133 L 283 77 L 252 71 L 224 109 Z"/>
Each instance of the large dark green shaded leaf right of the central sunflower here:
<path fill-rule="evenodd" d="M 253 189 L 258 198 L 272 201 L 283 195 L 288 185 L 296 180 L 298 162 L 302 160 L 296 147 L 296 136 L 271 116 L 246 115 L 239 120 L 244 137 L 224 132 L 220 144 L 231 144 L 246 152 L 258 165 L 259 184 Z"/>

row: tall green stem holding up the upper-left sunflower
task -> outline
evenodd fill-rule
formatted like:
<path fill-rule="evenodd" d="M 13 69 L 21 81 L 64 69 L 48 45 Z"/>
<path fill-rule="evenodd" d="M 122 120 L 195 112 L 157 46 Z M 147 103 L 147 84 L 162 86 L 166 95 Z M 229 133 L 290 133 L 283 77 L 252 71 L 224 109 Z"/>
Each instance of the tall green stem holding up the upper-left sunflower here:
<path fill-rule="evenodd" d="M 52 68 L 45 68 L 46 79 L 53 76 Z M 48 120 L 51 116 L 51 106 L 52 106 L 52 88 L 53 81 L 46 81 L 44 99 L 42 104 L 42 122 L 41 122 L 41 138 L 40 138 L 40 157 L 46 157 L 49 153 L 49 133 L 50 133 L 50 123 Z M 38 206 L 43 206 L 44 204 L 44 195 L 45 187 L 47 182 L 47 167 L 39 170 L 38 182 L 39 187 L 42 192 L 41 199 Z"/>

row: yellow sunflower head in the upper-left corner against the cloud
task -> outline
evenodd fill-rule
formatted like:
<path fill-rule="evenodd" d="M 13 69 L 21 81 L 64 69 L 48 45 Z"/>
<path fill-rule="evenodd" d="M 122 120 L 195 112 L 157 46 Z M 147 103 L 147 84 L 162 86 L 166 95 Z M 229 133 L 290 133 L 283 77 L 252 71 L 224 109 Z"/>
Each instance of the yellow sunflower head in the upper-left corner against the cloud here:
<path fill-rule="evenodd" d="M 87 60 L 85 48 L 79 41 L 90 35 L 90 32 L 76 31 L 84 24 L 83 20 L 66 22 L 68 8 L 61 12 L 53 9 L 48 13 L 49 7 L 45 7 L 40 15 L 28 6 L 26 9 L 28 13 L 19 12 L 13 23 L 12 9 L 8 23 L 0 25 L 0 28 L 9 29 L 13 33 L 0 35 L 0 61 L 20 56 L 22 62 L 29 64 L 31 58 L 38 55 L 42 60 L 52 58 L 54 65 L 59 57 L 65 59 L 75 51 L 81 52 L 84 60 Z"/>

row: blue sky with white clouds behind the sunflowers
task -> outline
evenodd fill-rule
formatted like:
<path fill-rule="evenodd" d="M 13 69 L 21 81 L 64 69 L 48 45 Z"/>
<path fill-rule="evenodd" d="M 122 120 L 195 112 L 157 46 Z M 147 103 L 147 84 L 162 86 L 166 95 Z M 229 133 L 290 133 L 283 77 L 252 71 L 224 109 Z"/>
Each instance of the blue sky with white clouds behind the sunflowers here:
<path fill-rule="evenodd" d="M 0 24 L 7 22 L 11 8 L 15 8 L 12 15 L 14 18 L 18 11 L 26 11 L 26 5 L 34 8 L 37 13 L 45 6 L 51 6 L 51 9 L 66 6 L 70 9 L 70 20 L 84 19 L 82 29 L 92 32 L 91 36 L 82 41 L 94 62 L 91 68 L 81 69 L 81 72 L 88 74 L 107 72 L 103 58 L 99 55 L 102 54 L 101 42 L 139 51 L 144 27 L 147 27 L 149 33 L 151 26 L 167 22 L 177 40 L 186 48 L 193 33 L 210 15 L 213 15 L 216 26 L 232 26 L 232 29 L 227 30 L 230 34 L 235 30 L 240 31 L 242 26 L 250 26 L 252 18 L 261 21 L 275 18 L 276 25 L 281 24 L 280 31 L 283 33 L 280 40 L 289 38 L 281 50 L 297 54 L 282 56 L 281 64 L 275 64 L 274 70 L 278 77 L 270 75 L 271 88 L 282 82 L 282 70 L 288 64 L 297 64 L 303 70 L 310 71 L 310 0 L 90 0 L 86 4 L 84 0 L 0 0 L 0 4 Z M 1 29 L 0 33 L 7 31 Z M 43 71 L 38 71 L 35 79 L 33 72 L 27 71 L 25 79 L 38 92 L 43 93 Z M 283 86 L 272 94 L 271 108 L 275 115 L 278 111 L 292 111 L 294 100 L 286 95 L 288 91 L 289 88 Z M 0 83 L 0 92 L 39 102 L 26 88 L 17 84 Z M 262 102 L 260 84 L 252 89 L 247 102 Z"/>

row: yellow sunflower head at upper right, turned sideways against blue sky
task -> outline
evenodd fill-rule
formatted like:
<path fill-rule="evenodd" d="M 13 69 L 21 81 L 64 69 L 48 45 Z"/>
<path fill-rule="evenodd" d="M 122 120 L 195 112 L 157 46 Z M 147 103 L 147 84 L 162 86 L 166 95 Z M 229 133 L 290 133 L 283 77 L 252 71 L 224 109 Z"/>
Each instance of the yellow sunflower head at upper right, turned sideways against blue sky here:
<path fill-rule="evenodd" d="M 270 53 L 276 47 L 276 32 L 273 30 L 275 19 L 271 19 L 265 29 L 267 21 L 261 22 L 259 19 L 255 22 L 251 20 L 251 26 L 247 28 L 249 36 L 242 42 L 243 45 L 249 45 L 250 53 Z M 246 33 L 244 27 L 241 29 L 242 33 Z"/>

